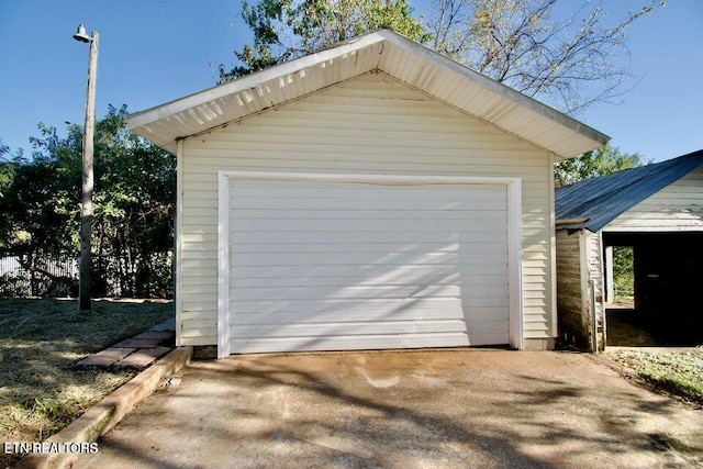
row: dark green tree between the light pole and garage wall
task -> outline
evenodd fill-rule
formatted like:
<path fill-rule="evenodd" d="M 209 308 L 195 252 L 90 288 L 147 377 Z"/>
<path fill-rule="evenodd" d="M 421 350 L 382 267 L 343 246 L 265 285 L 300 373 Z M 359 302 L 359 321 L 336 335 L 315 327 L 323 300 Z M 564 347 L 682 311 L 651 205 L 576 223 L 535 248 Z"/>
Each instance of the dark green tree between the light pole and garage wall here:
<path fill-rule="evenodd" d="M 111 107 L 97 126 L 96 268 L 123 295 L 164 295 L 171 283 L 176 158 L 130 132 L 126 116 L 126 107 Z"/>

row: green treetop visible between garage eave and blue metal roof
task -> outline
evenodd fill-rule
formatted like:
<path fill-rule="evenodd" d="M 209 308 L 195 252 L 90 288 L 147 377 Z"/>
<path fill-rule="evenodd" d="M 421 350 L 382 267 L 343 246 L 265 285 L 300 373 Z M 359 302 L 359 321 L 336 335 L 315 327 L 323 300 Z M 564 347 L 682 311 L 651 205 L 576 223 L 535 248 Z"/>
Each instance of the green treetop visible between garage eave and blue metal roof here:
<path fill-rule="evenodd" d="M 638 153 L 625 154 L 617 147 L 605 145 L 584 153 L 580 157 L 565 159 L 555 165 L 554 182 L 556 187 L 568 186 L 583 179 L 595 178 L 623 169 L 648 165 Z"/>

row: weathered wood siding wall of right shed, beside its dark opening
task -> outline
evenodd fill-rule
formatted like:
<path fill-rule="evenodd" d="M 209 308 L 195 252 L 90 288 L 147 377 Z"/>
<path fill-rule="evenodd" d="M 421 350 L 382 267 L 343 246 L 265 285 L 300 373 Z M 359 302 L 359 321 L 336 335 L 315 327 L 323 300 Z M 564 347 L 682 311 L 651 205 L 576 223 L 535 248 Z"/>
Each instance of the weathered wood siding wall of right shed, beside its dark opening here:
<path fill-rule="evenodd" d="M 557 232 L 557 310 L 559 322 L 581 345 L 592 346 L 592 286 L 595 289 L 595 313 L 599 348 L 603 333 L 603 250 L 600 233 L 581 230 L 568 234 Z M 594 280 L 594 283 L 591 283 Z M 563 338 L 563 337 L 562 337 Z M 570 337 L 567 337 L 570 338 Z"/>

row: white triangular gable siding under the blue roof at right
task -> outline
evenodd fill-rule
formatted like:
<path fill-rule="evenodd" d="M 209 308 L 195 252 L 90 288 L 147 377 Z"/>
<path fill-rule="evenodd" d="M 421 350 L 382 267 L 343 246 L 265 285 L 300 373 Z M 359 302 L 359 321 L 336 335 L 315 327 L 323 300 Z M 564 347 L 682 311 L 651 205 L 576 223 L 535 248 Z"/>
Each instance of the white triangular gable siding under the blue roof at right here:
<path fill-rule="evenodd" d="M 703 166 L 610 222 L 606 232 L 703 230 Z"/>

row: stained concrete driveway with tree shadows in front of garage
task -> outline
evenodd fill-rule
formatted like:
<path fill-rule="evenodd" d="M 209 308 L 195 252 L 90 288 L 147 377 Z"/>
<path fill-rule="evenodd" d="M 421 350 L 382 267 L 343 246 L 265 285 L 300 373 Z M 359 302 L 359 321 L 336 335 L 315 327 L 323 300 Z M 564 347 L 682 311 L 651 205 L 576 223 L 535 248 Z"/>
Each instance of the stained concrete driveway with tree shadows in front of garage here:
<path fill-rule="evenodd" d="M 199 361 L 74 467 L 703 466 L 703 412 L 603 360 L 469 349 Z"/>

